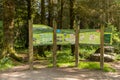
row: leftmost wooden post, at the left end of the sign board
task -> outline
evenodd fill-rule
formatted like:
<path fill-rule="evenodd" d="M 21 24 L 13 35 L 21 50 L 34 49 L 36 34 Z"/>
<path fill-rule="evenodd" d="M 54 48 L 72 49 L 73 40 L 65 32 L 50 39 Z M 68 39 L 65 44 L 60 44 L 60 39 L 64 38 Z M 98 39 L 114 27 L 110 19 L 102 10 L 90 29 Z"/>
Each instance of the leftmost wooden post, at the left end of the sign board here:
<path fill-rule="evenodd" d="M 29 68 L 33 70 L 33 29 L 32 29 L 32 20 L 29 20 Z"/>

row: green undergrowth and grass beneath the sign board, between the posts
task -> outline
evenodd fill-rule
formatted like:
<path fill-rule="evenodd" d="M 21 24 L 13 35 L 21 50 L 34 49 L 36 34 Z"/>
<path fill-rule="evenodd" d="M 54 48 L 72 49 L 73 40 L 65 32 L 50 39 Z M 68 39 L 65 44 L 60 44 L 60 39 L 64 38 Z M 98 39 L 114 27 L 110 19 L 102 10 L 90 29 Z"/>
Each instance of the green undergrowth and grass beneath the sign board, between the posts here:
<path fill-rule="evenodd" d="M 67 48 L 66 48 L 67 47 Z M 87 51 L 85 51 L 85 49 L 87 49 Z M 86 57 L 90 54 L 92 54 L 95 50 L 95 47 L 91 46 L 91 47 L 82 47 L 80 48 L 80 52 L 84 53 L 82 54 L 82 56 L 80 55 L 80 63 L 78 68 L 79 69 L 90 69 L 90 70 L 100 70 L 100 63 L 99 62 L 90 62 L 85 60 Z M 51 54 L 46 52 L 46 54 Z M 74 67 L 75 63 L 74 63 L 74 56 L 71 56 L 70 54 L 70 47 L 69 46 L 64 46 L 62 51 L 58 51 L 57 52 L 57 66 L 58 67 Z M 48 58 L 49 61 L 49 65 L 48 67 L 52 67 L 52 57 L 49 55 Z M 114 68 L 112 68 L 108 63 L 104 64 L 104 69 L 103 71 L 105 72 L 115 72 L 116 70 Z"/>

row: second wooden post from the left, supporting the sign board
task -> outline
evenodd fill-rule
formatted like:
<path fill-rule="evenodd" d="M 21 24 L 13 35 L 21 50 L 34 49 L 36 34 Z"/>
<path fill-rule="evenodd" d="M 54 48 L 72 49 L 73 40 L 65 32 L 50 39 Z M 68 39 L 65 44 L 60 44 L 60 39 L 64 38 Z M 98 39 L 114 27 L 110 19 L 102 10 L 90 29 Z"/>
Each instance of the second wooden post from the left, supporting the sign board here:
<path fill-rule="evenodd" d="M 57 24 L 55 22 L 55 19 L 53 20 L 53 67 L 56 67 L 56 54 L 57 54 L 57 34 L 56 34 L 56 29 L 57 29 Z"/>

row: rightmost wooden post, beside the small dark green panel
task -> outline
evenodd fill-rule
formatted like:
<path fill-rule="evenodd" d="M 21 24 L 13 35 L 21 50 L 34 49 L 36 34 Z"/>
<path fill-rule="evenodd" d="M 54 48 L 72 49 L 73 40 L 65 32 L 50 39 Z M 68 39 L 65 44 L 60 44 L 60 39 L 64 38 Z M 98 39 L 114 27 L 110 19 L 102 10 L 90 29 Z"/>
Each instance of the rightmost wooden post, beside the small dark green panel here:
<path fill-rule="evenodd" d="M 100 68 L 103 70 L 104 68 L 104 26 L 101 26 L 100 33 Z"/>

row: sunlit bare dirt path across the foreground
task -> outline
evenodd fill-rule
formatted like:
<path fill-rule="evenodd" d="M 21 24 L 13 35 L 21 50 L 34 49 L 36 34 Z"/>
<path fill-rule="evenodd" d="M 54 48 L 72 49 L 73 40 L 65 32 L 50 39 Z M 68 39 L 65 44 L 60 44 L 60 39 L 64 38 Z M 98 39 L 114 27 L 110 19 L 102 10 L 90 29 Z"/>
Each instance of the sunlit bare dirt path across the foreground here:
<path fill-rule="evenodd" d="M 41 63 L 41 64 L 40 64 Z M 71 67 L 47 68 L 45 62 L 36 62 L 36 69 L 28 70 L 28 65 L 13 67 L 0 72 L 0 80 L 120 80 L 120 62 L 110 63 L 117 71 L 77 69 Z"/>

